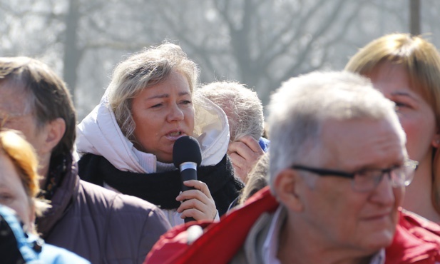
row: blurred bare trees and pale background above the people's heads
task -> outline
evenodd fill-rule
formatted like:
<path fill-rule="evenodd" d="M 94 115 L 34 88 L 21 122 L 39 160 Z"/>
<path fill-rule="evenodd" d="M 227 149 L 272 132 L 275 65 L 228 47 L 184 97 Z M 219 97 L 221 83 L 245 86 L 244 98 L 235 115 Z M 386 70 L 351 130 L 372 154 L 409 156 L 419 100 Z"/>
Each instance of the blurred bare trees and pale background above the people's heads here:
<path fill-rule="evenodd" d="M 246 83 L 266 104 L 287 78 L 342 69 L 387 33 L 415 30 L 440 46 L 439 7 L 438 0 L 0 0 L 0 56 L 53 67 L 79 120 L 119 61 L 164 39 L 199 64 L 201 82 Z"/>

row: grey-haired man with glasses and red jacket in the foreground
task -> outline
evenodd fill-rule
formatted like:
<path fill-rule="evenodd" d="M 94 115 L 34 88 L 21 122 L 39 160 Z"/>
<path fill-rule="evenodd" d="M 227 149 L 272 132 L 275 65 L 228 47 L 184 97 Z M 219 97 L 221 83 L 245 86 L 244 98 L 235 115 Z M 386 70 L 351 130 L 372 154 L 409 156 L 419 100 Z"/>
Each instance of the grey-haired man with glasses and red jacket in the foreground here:
<path fill-rule="evenodd" d="M 220 223 L 201 223 L 176 259 L 204 261 L 215 249 L 213 263 L 438 262 L 439 226 L 401 209 L 418 163 L 394 108 L 354 73 L 283 83 L 269 105 L 270 188 Z M 170 252 L 160 242 L 150 260 Z"/>

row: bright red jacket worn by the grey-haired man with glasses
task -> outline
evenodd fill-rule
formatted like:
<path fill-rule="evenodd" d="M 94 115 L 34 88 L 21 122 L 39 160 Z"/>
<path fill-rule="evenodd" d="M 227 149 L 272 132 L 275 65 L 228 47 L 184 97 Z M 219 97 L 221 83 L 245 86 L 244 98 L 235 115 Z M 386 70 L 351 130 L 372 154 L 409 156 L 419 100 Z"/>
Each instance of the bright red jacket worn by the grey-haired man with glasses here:
<path fill-rule="evenodd" d="M 247 200 L 244 207 L 223 216 L 220 222 L 198 221 L 175 226 L 155 243 L 144 264 L 229 263 L 260 215 L 273 213 L 278 205 L 266 187 Z M 188 245 L 186 230 L 191 225 L 200 225 L 204 232 Z M 387 264 L 440 262 L 440 225 L 401 211 L 393 243 L 385 255 Z"/>

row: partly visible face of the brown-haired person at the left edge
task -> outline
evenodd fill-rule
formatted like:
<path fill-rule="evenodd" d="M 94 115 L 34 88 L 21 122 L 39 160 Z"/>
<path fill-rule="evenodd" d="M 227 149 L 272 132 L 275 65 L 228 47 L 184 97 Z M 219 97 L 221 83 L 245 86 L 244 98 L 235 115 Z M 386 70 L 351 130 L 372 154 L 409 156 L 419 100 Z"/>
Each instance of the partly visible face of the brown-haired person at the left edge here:
<path fill-rule="evenodd" d="M 37 129 L 26 94 L 17 85 L 19 84 L 0 82 L 0 121 L 4 128 L 21 131 L 40 156 L 41 146 L 46 138 Z"/>

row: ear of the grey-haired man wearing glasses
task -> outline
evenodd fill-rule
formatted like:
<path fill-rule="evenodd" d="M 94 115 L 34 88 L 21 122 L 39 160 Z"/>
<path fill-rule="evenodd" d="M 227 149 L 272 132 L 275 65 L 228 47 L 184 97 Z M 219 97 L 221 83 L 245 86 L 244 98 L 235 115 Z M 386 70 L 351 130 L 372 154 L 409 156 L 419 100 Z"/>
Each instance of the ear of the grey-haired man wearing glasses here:
<path fill-rule="evenodd" d="M 300 192 L 302 183 L 301 176 L 291 168 L 285 168 L 278 173 L 274 182 L 275 196 L 287 209 L 295 212 L 303 210 Z"/>

